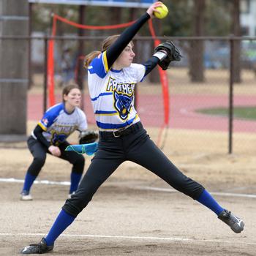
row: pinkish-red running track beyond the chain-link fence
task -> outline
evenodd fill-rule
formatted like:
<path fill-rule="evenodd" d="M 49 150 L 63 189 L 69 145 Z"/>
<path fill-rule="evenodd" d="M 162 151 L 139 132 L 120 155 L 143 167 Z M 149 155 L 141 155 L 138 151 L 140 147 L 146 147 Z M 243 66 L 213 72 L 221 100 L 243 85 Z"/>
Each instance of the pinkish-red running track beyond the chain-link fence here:
<path fill-rule="evenodd" d="M 60 97 L 56 100 L 61 101 Z M 28 118 L 38 121 L 42 118 L 42 95 L 29 94 Z M 234 97 L 236 106 L 255 106 L 255 96 Z M 84 97 L 84 110 L 89 123 L 94 123 L 94 115 L 89 96 Z M 206 129 L 214 131 L 227 131 L 228 118 L 221 116 L 209 116 L 197 113 L 200 108 L 217 108 L 228 106 L 228 97 L 223 95 L 206 94 L 176 94 L 170 97 L 170 128 L 175 129 Z M 138 113 L 145 126 L 160 127 L 164 123 L 164 111 L 162 97 L 159 95 L 139 95 Z M 234 132 L 256 132 L 256 121 L 234 119 Z"/>

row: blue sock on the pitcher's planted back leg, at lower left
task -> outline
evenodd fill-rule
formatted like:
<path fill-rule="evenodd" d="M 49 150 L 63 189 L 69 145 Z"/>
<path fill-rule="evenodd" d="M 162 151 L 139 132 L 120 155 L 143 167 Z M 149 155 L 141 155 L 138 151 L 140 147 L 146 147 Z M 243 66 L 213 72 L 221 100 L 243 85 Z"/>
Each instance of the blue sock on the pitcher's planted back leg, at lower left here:
<path fill-rule="evenodd" d="M 48 246 L 53 245 L 58 236 L 74 221 L 74 219 L 75 217 L 67 214 L 64 210 L 61 210 L 45 238 L 46 244 Z"/>

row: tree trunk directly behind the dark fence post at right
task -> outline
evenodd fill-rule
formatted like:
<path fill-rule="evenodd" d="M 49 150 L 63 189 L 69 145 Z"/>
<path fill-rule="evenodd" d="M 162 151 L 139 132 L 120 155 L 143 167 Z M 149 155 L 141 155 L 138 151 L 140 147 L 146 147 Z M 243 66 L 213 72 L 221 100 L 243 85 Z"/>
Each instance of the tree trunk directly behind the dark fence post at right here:
<path fill-rule="evenodd" d="M 233 0 L 233 34 L 236 37 L 241 37 L 241 26 L 240 26 L 240 0 Z M 234 42 L 234 49 L 233 49 L 233 81 L 234 83 L 241 83 L 241 42 L 235 41 Z"/>

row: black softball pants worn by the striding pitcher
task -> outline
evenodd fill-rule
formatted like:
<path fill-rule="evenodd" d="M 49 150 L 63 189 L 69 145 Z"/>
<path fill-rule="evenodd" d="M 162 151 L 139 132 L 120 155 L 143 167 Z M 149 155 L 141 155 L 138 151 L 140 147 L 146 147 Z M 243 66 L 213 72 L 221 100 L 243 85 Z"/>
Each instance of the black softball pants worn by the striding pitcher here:
<path fill-rule="evenodd" d="M 62 209 L 73 217 L 77 217 L 93 197 L 100 185 L 121 165 L 129 160 L 146 167 L 162 178 L 171 187 L 189 195 L 193 199 L 200 197 L 204 188 L 181 173 L 178 168 L 157 148 L 148 137 L 143 127 L 118 138 L 103 136 L 100 133 L 99 149 L 75 195 L 68 199 Z"/>

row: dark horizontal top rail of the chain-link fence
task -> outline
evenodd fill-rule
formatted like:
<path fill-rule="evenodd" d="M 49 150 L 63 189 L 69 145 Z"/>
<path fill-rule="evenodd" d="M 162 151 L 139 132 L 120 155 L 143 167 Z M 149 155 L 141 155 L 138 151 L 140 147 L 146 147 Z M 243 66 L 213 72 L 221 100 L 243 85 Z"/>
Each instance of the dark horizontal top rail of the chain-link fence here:
<path fill-rule="evenodd" d="M 45 39 L 45 40 L 85 40 L 85 39 L 105 39 L 105 36 L 98 36 L 98 37 L 91 37 L 91 36 L 86 36 L 86 37 L 78 37 L 78 36 L 0 36 L 0 39 Z M 244 40 L 249 40 L 249 41 L 255 41 L 256 37 L 135 37 L 134 39 L 136 40 L 151 40 L 151 39 L 159 39 L 159 40 L 184 40 L 184 41 L 190 41 L 190 40 L 223 40 L 223 41 L 231 41 L 231 40 L 236 40 L 236 41 L 244 41 Z"/>

